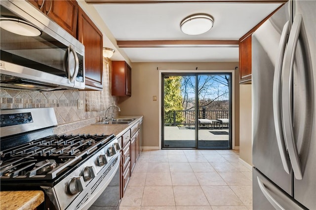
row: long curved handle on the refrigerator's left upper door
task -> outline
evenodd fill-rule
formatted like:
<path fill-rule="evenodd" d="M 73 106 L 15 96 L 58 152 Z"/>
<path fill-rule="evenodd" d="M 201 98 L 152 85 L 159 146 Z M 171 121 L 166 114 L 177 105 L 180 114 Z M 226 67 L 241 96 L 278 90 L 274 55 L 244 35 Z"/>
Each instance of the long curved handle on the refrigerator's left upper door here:
<path fill-rule="evenodd" d="M 278 45 L 277 51 L 277 62 L 275 67 L 275 74 L 273 78 L 273 117 L 275 122 L 276 128 L 276 141 L 278 150 L 280 152 L 281 161 L 283 168 L 287 174 L 290 174 L 290 167 L 287 158 L 286 146 L 283 137 L 283 130 L 282 130 L 282 120 L 281 120 L 281 99 L 280 99 L 280 91 L 281 91 L 281 73 L 282 73 L 282 65 L 283 65 L 283 58 L 285 53 L 285 46 L 288 40 L 288 35 L 290 32 L 290 24 L 287 21 L 282 30 L 280 43 Z"/>

